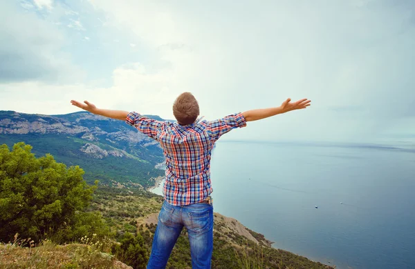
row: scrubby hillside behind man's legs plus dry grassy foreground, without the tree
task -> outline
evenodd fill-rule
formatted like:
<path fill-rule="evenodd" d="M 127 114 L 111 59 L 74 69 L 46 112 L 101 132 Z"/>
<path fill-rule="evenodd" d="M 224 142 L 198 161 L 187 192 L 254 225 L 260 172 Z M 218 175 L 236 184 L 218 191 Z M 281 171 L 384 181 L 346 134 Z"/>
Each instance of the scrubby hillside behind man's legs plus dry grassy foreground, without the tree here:
<path fill-rule="evenodd" d="M 102 212 L 111 228 L 110 237 L 82 237 L 57 245 L 48 239 L 39 246 L 30 239 L 0 243 L 0 268 L 145 268 L 157 226 L 157 212 L 163 198 L 145 190 L 99 188 L 89 211 Z M 249 230 L 236 219 L 214 213 L 212 268 L 333 269 L 306 257 L 270 247 L 270 241 Z M 140 238 L 144 257 L 135 267 L 114 252 L 127 233 Z M 46 237 L 47 238 L 47 237 Z M 23 245 L 28 247 L 22 247 Z M 135 255 L 133 257 L 136 257 Z M 191 268 L 190 243 L 183 230 L 167 268 Z"/>

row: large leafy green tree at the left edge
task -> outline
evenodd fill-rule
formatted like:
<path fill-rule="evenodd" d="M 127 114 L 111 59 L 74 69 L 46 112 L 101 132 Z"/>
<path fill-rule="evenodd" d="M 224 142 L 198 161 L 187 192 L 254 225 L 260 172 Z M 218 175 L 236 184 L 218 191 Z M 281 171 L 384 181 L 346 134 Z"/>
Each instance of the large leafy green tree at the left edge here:
<path fill-rule="evenodd" d="M 36 158 L 32 147 L 0 146 L 0 241 L 19 233 L 39 240 L 47 232 L 75 225 L 76 214 L 89 205 L 95 186 L 88 186 L 79 166 L 67 168 L 52 155 Z"/>

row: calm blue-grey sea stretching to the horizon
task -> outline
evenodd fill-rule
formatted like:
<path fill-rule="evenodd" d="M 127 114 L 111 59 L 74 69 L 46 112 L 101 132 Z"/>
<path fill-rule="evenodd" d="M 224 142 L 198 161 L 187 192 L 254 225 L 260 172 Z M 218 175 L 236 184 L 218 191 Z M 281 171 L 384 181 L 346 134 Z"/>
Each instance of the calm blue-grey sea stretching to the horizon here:
<path fill-rule="evenodd" d="M 415 268 L 414 148 L 219 142 L 211 169 L 214 211 L 275 248 L 338 268 Z"/>

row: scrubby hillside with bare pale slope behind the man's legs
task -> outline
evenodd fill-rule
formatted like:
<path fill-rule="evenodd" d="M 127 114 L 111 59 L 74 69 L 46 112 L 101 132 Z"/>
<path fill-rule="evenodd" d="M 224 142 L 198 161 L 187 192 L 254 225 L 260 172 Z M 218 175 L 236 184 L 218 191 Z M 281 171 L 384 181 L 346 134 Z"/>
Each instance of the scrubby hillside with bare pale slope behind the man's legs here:
<path fill-rule="evenodd" d="M 102 212 L 116 237 L 121 237 L 124 232 L 138 232 L 150 253 L 162 203 L 163 197 L 143 190 L 100 188 L 95 192 L 90 210 Z M 333 268 L 272 248 L 264 235 L 246 228 L 236 219 L 217 212 L 214 215 L 212 268 Z M 189 246 L 184 229 L 174 246 L 167 268 L 191 268 Z"/>

